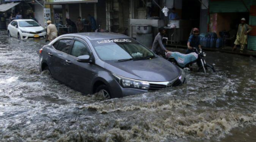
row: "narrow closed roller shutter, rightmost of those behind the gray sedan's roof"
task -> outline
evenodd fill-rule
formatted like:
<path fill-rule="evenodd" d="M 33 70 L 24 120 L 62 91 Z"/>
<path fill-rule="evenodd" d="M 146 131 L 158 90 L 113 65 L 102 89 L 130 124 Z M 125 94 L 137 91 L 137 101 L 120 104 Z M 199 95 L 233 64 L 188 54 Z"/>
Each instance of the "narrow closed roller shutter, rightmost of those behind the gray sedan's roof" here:
<path fill-rule="evenodd" d="M 107 12 L 105 0 L 99 0 L 97 3 L 97 24 L 101 28 L 107 29 Z"/>

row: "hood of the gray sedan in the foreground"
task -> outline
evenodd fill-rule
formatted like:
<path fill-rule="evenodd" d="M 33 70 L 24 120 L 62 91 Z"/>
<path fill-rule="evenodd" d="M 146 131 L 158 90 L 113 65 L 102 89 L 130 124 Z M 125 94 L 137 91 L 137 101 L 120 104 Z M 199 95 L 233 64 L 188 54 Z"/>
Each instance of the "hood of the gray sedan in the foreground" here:
<path fill-rule="evenodd" d="M 122 77 L 154 82 L 171 81 L 181 74 L 177 66 L 161 57 L 126 62 L 106 61 L 104 68 Z"/>

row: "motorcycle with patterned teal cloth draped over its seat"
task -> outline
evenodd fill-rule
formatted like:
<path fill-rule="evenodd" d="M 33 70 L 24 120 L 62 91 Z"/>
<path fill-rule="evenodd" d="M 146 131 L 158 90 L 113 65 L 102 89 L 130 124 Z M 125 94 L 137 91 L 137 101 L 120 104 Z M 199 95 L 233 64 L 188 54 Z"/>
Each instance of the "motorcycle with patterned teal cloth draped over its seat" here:
<path fill-rule="evenodd" d="M 197 60 L 195 60 L 193 62 L 187 63 L 184 67 L 180 66 L 174 57 L 168 56 L 167 52 L 165 53 L 165 57 L 168 61 L 170 61 L 171 63 L 173 63 L 174 65 L 177 65 L 178 67 L 180 67 L 182 69 L 188 68 L 190 70 L 191 66 L 194 63 L 197 63 L 197 65 L 198 65 L 197 71 L 198 72 L 204 72 L 204 73 L 206 73 L 206 72 L 215 73 L 216 72 L 213 65 L 206 63 L 206 61 L 205 61 L 206 53 L 203 52 L 202 49 L 192 48 L 192 50 L 198 55 L 198 58 L 197 58 Z"/>

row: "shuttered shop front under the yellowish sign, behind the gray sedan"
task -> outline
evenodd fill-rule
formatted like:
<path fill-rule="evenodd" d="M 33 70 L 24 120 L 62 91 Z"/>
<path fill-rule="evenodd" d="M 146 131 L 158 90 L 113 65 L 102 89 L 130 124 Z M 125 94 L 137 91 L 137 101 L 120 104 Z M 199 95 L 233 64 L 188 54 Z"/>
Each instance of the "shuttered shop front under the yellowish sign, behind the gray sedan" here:
<path fill-rule="evenodd" d="M 105 0 L 46 0 L 46 4 L 50 5 L 51 13 L 54 15 L 52 21 L 57 25 L 60 34 L 76 33 L 77 31 L 70 30 L 71 27 L 65 25 L 68 24 L 66 19 L 76 23 L 78 17 L 81 17 L 84 24 L 83 32 L 91 32 L 88 15 L 94 17 L 97 26 L 107 28 Z"/>

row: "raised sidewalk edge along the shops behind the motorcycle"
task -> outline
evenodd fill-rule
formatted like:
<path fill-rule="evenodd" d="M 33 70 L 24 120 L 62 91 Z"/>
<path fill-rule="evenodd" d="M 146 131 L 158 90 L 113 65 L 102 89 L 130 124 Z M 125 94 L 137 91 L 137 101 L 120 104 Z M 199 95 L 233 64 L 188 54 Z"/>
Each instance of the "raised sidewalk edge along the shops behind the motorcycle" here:
<path fill-rule="evenodd" d="M 167 48 L 168 47 L 187 49 L 187 46 L 184 46 L 184 45 L 168 45 Z M 238 54 L 238 55 L 256 57 L 256 51 L 245 50 L 244 52 L 240 52 L 239 51 L 240 48 L 237 48 L 235 51 L 232 51 L 232 47 L 229 47 L 229 46 L 220 47 L 220 48 L 202 47 L 202 49 L 205 51 L 225 52 L 225 53 L 230 53 L 230 54 Z"/>

